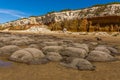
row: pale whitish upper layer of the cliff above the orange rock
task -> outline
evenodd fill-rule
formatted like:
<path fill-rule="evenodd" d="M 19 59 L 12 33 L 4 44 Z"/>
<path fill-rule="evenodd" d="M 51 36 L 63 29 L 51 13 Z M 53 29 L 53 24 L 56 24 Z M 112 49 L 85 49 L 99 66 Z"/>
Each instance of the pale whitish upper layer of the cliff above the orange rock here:
<path fill-rule="evenodd" d="M 25 19 L 19 19 L 16 21 L 7 22 L 1 24 L 0 26 L 10 27 L 10 26 L 25 26 L 25 25 L 42 25 L 42 24 L 49 24 L 51 22 L 59 22 L 59 21 L 71 20 L 71 19 L 114 16 L 114 15 L 120 16 L 120 4 L 111 4 L 105 6 L 85 8 L 81 10 L 50 13 L 44 16 L 29 17 Z"/>

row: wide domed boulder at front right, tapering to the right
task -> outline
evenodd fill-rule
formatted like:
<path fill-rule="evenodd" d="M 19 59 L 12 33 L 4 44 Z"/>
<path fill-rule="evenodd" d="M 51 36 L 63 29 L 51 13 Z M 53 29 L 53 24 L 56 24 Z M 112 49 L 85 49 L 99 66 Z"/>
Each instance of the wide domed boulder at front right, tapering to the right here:
<path fill-rule="evenodd" d="M 111 56 L 109 53 L 102 52 L 102 51 L 91 51 L 86 58 L 89 61 L 114 61 L 116 58 Z"/>

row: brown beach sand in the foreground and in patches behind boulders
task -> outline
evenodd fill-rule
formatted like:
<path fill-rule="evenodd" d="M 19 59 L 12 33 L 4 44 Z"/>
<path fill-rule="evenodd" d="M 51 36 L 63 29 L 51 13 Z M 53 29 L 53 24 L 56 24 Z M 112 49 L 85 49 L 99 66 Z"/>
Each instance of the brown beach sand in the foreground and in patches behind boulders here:
<path fill-rule="evenodd" d="M 82 39 L 96 41 L 94 36 L 84 35 L 59 35 L 59 38 L 70 38 L 75 41 L 81 41 Z M 120 45 L 120 37 L 102 37 L 102 39 L 102 43 Z M 0 57 L 0 59 L 8 61 L 6 57 Z M 11 66 L 0 67 L 0 80 L 120 80 L 120 61 L 94 62 L 93 64 L 96 66 L 95 71 L 78 71 L 65 68 L 57 62 L 44 65 L 13 62 Z"/>

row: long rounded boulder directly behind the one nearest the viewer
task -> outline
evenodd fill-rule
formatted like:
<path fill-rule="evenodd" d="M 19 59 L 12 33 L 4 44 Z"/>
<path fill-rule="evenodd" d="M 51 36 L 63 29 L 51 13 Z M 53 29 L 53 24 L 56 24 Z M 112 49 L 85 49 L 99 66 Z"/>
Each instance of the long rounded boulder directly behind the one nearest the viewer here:
<path fill-rule="evenodd" d="M 60 54 L 68 57 L 85 58 L 88 55 L 88 52 L 82 48 L 66 47 L 65 49 L 61 50 Z"/>

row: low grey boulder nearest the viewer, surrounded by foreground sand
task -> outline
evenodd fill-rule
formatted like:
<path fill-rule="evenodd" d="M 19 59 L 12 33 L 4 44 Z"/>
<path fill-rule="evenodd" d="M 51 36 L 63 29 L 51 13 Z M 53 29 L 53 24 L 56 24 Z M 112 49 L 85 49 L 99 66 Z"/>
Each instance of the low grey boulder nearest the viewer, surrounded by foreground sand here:
<path fill-rule="evenodd" d="M 93 66 L 89 61 L 81 58 L 75 58 L 72 62 L 61 63 L 61 65 L 78 70 L 95 70 L 95 66 Z"/>

